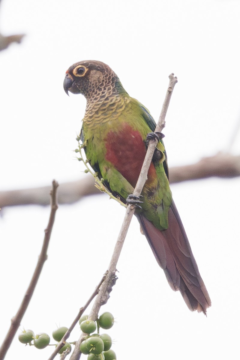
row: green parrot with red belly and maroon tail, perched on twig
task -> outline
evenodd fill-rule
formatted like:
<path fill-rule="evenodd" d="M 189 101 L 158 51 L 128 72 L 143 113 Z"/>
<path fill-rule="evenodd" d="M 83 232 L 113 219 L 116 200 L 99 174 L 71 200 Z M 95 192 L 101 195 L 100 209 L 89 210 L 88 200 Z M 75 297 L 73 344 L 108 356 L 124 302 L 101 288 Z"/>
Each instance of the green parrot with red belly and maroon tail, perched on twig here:
<path fill-rule="evenodd" d="M 116 197 L 136 204 L 141 230 L 169 285 L 180 290 L 190 310 L 206 314 L 211 301 L 172 200 L 163 135 L 154 133 L 156 124 L 149 111 L 128 95 L 116 73 L 100 61 L 69 67 L 64 90 L 87 100 L 80 137 L 91 167 Z M 132 193 L 149 139 L 154 137 L 159 142 L 137 199 Z"/>

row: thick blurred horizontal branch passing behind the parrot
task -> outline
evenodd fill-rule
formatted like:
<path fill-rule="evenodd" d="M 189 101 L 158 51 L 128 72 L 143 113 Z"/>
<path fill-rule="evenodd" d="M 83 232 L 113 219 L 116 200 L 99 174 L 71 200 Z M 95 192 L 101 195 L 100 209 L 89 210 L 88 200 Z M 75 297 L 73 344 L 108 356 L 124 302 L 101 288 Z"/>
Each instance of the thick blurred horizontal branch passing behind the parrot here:
<path fill-rule="evenodd" d="M 172 184 L 212 176 L 224 178 L 240 176 L 240 156 L 218 153 L 203 158 L 195 164 L 169 169 Z M 0 191 L 0 207 L 30 204 L 46 206 L 49 204 L 49 191 L 50 186 Z M 96 194 L 101 194 L 101 192 L 94 186 L 94 177 L 86 176 L 81 180 L 60 184 L 58 203 L 72 204 L 85 196 Z"/>

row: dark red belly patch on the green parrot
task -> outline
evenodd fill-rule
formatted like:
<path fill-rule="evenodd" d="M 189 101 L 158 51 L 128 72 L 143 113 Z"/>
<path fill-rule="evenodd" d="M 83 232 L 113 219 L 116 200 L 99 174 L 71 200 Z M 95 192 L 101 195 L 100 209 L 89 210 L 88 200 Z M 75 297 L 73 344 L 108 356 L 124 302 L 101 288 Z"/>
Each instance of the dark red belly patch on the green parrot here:
<path fill-rule="evenodd" d="M 146 155 L 146 146 L 139 131 L 124 123 L 121 130 L 109 131 L 105 139 L 106 160 L 135 187 Z M 156 179 L 156 171 L 151 162 L 147 183 Z"/>

